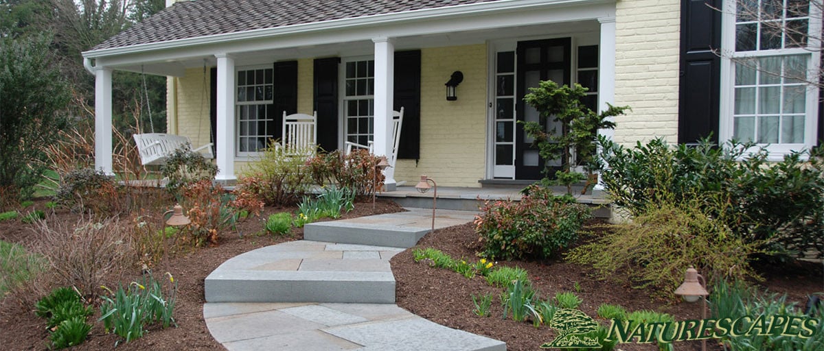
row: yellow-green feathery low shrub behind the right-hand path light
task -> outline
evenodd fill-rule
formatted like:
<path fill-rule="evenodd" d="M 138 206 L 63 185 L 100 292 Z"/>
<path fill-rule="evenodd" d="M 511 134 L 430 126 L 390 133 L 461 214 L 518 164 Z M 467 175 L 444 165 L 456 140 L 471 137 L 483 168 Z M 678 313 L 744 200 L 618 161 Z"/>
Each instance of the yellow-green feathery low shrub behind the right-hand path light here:
<path fill-rule="evenodd" d="M 747 263 L 756 252 L 754 245 L 735 237 L 699 206 L 661 203 L 632 223 L 606 228 L 592 242 L 568 252 L 566 259 L 592 265 L 604 279 L 619 279 L 668 298 L 674 297 L 689 266 L 708 279 L 756 277 Z"/>

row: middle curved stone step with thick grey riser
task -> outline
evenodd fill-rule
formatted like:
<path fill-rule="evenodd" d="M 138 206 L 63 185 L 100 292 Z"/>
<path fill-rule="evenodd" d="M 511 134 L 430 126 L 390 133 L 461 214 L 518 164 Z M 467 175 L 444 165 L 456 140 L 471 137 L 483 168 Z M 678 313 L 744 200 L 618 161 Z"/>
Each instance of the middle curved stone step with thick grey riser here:
<path fill-rule="evenodd" d="M 204 282 L 208 303 L 395 303 L 396 247 L 296 241 L 246 252 Z"/>

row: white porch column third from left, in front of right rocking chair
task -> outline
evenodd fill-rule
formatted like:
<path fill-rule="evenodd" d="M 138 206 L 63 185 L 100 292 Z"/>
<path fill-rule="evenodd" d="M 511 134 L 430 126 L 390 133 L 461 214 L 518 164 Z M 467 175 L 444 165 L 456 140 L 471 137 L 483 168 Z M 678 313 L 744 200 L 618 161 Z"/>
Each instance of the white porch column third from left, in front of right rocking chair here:
<path fill-rule="evenodd" d="M 395 100 L 395 45 L 391 39 L 372 39 L 375 43 L 375 155 L 392 152 L 392 102 Z M 386 189 L 395 189 L 395 165 L 383 171 Z"/>

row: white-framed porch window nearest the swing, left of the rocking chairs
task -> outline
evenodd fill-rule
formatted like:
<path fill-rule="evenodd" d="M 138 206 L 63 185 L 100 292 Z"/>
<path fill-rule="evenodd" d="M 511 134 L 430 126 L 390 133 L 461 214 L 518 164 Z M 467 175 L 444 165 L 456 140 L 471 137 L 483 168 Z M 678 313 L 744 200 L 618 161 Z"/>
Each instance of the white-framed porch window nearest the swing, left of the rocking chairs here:
<path fill-rule="evenodd" d="M 257 155 L 274 136 L 277 111 L 273 105 L 272 67 L 241 67 L 237 70 L 236 150 L 238 156 Z"/>

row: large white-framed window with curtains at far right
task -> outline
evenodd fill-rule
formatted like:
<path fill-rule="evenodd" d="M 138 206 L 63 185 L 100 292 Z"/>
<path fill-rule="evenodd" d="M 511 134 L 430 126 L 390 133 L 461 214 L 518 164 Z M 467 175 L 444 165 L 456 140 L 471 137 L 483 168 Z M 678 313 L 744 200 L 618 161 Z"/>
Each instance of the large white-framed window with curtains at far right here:
<path fill-rule="evenodd" d="M 753 141 L 780 159 L 816 142 L 820 0 L 726 2 L 721 140 Z"/>

